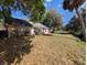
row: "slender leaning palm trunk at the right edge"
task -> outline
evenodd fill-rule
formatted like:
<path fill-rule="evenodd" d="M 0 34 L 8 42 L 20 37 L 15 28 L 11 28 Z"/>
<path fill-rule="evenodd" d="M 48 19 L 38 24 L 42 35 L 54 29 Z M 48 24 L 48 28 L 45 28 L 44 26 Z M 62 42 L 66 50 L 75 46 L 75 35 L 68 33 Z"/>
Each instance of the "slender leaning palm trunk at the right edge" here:
<path fill-rule="evenodd" d="M 77 8 L 75 10 L 76 10 L 77 17 L 79 19 L 79 23 L 80 23 L 80 26 L 81 26 L 81 33 L 84 34 L 84 40 L 86 40 L 86 28 L 85 28 L 85 23 L 84 23 L 83 17 L 78 12 L 78 9 Z"/>

